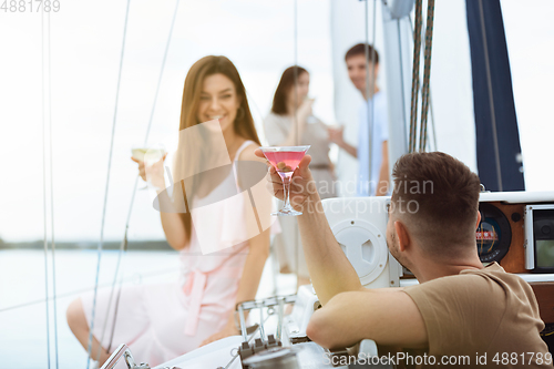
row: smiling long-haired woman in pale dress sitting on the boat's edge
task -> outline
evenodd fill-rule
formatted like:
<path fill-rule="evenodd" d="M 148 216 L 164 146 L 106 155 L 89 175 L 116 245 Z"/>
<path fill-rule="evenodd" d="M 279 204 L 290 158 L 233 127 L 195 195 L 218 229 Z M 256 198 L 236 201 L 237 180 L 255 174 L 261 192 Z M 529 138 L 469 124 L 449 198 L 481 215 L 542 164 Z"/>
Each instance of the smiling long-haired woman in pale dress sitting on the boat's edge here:
<path fill-rule="evenodd" d="M 140 175 L 157 188 L 155 206 L 161 209 L 167 243 L 179 252 L 183 264 L 179 280 L 124 286 L 116 307 L 109 289 L 99 291 L 93 359 L 102 363 L 120 344 L 126 344 L 137 362 L 154 367 L 238 334 L 235 306 L 255 298 L 269 250 L 269 193 L 249 185 L 254 170 L 246 174 L 239 170 L 243 164 L 256 164 L 265 189 L 266 165 L 254 155 L 257 147 L 235 65 L 225 57 L 198 60 L 183 91 L 173 194 L 164 183 L 163 160 L 145 167 L 133 158 Z M 85 349 L 93 305 L 91 293 L 68 308 L 69 326 Z"/>

